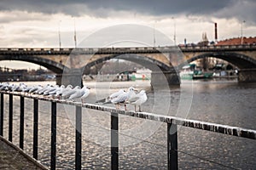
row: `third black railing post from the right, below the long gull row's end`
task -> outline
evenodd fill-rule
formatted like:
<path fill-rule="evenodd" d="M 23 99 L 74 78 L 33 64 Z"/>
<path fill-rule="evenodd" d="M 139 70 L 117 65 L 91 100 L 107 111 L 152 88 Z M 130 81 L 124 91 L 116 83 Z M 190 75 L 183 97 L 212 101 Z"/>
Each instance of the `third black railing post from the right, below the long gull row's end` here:
<path fill-rule="evenodd" d="M 76 106 L 76 169 L 81 169 L 82 158 L 82 107 Z"/>

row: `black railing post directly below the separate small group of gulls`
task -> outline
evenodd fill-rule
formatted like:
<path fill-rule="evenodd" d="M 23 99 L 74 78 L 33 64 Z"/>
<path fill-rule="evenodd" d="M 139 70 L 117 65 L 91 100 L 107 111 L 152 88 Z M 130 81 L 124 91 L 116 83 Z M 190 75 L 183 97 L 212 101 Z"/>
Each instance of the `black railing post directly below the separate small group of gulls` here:
<path fill-rule="evenodd" d="M 111 113 L 111 169 L 119 169 L 119 114 Z"/>

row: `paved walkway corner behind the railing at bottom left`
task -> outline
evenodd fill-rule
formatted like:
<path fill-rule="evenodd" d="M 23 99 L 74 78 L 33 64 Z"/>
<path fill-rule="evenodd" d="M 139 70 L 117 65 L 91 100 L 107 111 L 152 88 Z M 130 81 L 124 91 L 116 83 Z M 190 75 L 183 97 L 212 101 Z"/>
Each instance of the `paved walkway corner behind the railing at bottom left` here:
<path fill-rule="evenodd" d="M 0 169 L 48 169 L 0 136 Z"/>

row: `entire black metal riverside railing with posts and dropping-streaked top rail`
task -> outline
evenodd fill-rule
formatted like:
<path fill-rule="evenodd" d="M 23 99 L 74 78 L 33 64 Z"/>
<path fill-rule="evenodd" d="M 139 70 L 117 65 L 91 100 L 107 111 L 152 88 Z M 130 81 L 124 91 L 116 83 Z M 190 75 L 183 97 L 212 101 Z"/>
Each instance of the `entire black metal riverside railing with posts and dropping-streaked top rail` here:
<path fill-rule="evenodd" d="M 256 139 L 256 131 L 241 127 L 231 127 L 210 122 L 200 122 L 178 118 L 175 116 L 162 116 L 148 112 L 119 111 L 112 107 L 102 105 L 82 104 L 80 102 L 67 101 L 63 99 L 49 99 L 43 96 L 32 96 L 20 94 L 17 92 L 0 91 L 0 135 L 3 136 L 3 95 L 9 95 L 9 141 L 13 137 L 13 96 L 20 96 L 20 149 L 24 147 L 24 98 L 33 99 L 33 157 L 38 159 L 38 100 L 51 102 L 51 147 L 50 147 L 50 169 L 56 167 L 56 118 L 57 104 L 75 106 L 75 168 L 81 169 L 81 151 L 82 151 L 82 108 L 96 111 L 107 111 L 111 113 L 111 168 L 119 168 L 119 115 L 133 116 L 157 122 L 166 122 L 167 124 L 167 166 L 168 169 L 177 169 L 177 125 L 183 127 L 192 127 L 214 133 L 224 133 L 232 136 L 238 136 L 247 139 Z M 171 127 L 172 132 L 171 133 Z"/>

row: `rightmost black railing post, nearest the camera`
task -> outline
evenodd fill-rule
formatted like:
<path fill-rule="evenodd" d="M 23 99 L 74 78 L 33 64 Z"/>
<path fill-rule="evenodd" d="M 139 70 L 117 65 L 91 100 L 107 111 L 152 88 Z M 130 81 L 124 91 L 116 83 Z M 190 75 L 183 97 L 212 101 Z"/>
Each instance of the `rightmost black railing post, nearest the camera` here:
<path fill-rule="evenodd" d="M 177 170 L 177 125 L 167 123 L 168 170 Z"/>

